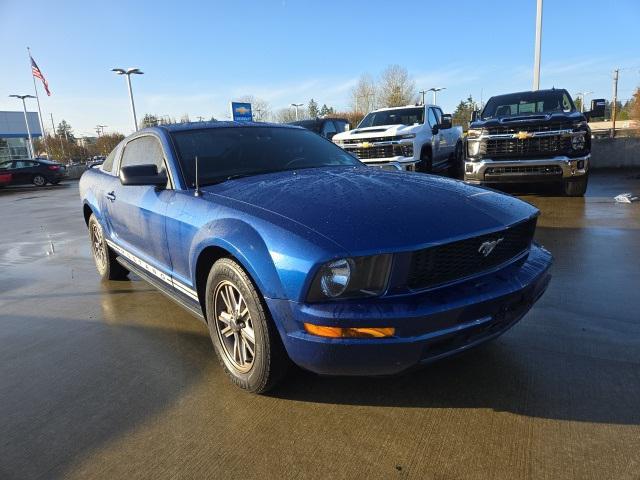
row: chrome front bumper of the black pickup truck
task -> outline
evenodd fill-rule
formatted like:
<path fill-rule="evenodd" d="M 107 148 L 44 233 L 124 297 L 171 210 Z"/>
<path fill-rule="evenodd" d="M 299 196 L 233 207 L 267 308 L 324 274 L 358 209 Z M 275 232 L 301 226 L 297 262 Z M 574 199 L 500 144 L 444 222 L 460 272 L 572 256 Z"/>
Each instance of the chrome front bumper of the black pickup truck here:
<path fill-rule="evenodd" d="M 557 182 L 586 175 L 590 160 L 590 154 L 576 158 L 563 155 L 527 160 L 467 159 L 464 162 L 464 180 L 475 184 Z"/>

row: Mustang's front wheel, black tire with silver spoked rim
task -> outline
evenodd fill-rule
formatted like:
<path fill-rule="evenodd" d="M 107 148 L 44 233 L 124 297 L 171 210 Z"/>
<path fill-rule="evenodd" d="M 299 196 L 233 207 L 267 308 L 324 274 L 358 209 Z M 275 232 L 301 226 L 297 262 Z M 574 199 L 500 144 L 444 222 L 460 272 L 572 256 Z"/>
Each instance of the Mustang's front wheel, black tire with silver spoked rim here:
<path fill-rule="evenodd" d="M 205 302 L 211 341 L 227 376 L 253 393 L 272 389 L 284 378 L 291 361 L 260 294 L 242 267 L 229 258 L 214 263 L 207 278 Z"/>

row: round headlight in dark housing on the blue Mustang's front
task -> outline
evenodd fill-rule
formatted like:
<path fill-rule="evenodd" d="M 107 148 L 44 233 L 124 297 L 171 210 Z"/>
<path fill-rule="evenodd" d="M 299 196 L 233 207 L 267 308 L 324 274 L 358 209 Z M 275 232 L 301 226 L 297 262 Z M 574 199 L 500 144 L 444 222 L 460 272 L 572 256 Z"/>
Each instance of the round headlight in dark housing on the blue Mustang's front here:
<path fill-rule="evenodd" d="M 390 268 L 391 255 L 332 260 L 318 269 L 307 300 L 381 295 L 387 286 Z"/>

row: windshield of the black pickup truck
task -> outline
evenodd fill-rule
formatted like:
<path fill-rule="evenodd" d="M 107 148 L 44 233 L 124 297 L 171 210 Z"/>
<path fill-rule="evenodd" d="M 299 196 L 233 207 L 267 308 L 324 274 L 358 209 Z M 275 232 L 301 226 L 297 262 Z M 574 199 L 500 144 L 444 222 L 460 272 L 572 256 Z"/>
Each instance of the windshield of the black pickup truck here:
<path fill-rule="evenodd" d="M 532 113 L 574 112 L 571 97 L 565 90 L 512 93 L 491 97 L 482 118 L 499 118 Z"/>

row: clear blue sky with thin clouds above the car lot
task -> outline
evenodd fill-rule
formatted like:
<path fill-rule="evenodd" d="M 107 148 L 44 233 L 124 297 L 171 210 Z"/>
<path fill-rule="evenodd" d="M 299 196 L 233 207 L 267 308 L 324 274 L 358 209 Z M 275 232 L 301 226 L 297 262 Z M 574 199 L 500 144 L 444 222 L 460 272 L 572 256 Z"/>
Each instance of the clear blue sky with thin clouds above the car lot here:
<path fill-rule="evenodd" d="M 0 110 L 10 94 L 33 93 L 26 47 L 46 76 L 50 114 L 76 135 L 131 133 L 124 77 L 132 77 L 138 118 L 228 116 L 243 95 L 272 110 L 314 98 L 347 109 L 365 73 L 408 69 L 417 90 L 446 87 L 451 112 L 468 95 L 532 85 L 536 0 L 451 1 L 40 1 L 0 0 Z M 541 87 L 575 96 L 618 96 L 640 85 L 640 0 L 544 0 Z M 36 109 L 35 101 L 30 103 Z"/>

